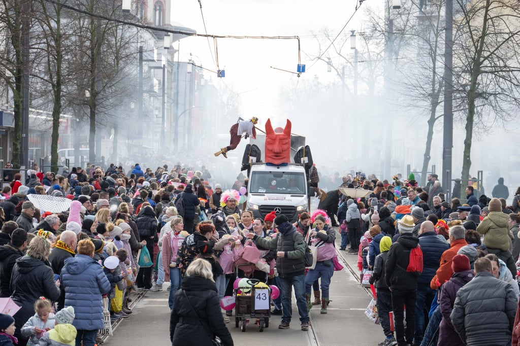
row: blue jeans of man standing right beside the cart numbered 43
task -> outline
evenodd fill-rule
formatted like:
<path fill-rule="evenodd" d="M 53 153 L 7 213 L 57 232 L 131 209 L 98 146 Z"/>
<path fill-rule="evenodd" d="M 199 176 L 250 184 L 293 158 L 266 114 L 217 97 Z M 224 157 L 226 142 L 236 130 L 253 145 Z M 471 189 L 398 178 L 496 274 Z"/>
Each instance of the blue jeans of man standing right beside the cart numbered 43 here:
<path fill-rule="evenodd" d="M 292 277 L 278 277 L 282 296 L 282 321 L 291 322 L 292 316 L 292 287 L 294 286 L 294 296 L 296 297 L 296 307 L 300 314 L 302 323 L 309 322 L 309 314 L 307 313 L 307 300 L 305 299 L 305 275 L 297 275 Z"/>

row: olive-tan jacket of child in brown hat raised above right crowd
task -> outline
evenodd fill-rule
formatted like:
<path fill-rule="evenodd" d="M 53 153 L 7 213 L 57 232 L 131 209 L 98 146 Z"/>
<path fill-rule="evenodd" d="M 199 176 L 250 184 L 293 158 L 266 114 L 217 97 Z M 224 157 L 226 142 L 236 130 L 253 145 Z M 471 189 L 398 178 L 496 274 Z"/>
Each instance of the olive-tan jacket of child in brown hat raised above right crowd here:
<path fill-rule="evenodd" d="M 501 211 L 491 211 L 477 226 L 484 235 L 484 245 L 492 249 L 509 251 L 509 217 Z"/>

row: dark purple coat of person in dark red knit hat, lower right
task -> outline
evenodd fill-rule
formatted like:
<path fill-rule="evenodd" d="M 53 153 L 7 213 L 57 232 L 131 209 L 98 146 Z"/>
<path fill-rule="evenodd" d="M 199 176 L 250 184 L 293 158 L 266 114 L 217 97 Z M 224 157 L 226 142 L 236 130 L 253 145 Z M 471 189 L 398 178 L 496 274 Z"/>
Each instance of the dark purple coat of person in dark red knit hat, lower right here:
<path fill-rule="evenodd" d="M 439 341 L 438 345 L 443 346 L 464 346 L 464 342 L 460 339 L 455 328 L 451 324 L 450 314 L 453 310 L 453 303 L 457 297 L 457 292 L 465 284 L 469 283 L 475 274 L 472 270 L 465 272 L 453 273 L 453 276 L 443 285 L 440 293 L 440 313 L 443 320 L 439 325 Z"/>

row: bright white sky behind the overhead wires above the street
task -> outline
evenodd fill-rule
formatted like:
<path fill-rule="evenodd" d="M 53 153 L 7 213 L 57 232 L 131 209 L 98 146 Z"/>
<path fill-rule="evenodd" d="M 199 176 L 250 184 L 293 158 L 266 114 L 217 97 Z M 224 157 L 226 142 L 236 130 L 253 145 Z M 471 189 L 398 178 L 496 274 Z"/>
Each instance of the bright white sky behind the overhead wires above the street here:
<path fill-rule="evenodd" d="M 324 28 L 337 33 L 355 11 L 356 1 L 347 0 L 201 0 L 202 12 L 208 34 L 215 35 L 254 35 L 254 36 L 300 36 L 301 58 L 308 72 L 304 78 L 320 80 L 334 77 L 327 73 L 323 62 L 313 63 L 306 54 L 315 56 L 318 49 L 313 32 Z M 375 0 L 368 0 L 356 13 L 345 28 L 359 29 L 363 7 Z M 204 33 L 201 10 L 197 1 L 172 1 L 172 21 Z M 174 47 L 177 48 L 177 44 Z M 213 40 L 210 39 L 214 54 Z M 282 86 L 295 85 L 297 76 L 277 71 L 269 66 L 296 72 L 298 63 L 297 41 L 295 39 L 218 39 L 218 61 L 220 69 L 226 71 L 224 83 L 241 96 L 242 114 L 257 115 L 261 118 L 287 115 L 277 114 L 277 95 Z M 187 60 L 189 53 L 196 63 L 204 68 L 216 70 L 211 57 L 210 47 L 203 37 L 189 37 L 180 41 L 180 59 Z M 212 78 L 215 85 L 221 85 L 216 75 L 205 71 L 206 78 Z"/>

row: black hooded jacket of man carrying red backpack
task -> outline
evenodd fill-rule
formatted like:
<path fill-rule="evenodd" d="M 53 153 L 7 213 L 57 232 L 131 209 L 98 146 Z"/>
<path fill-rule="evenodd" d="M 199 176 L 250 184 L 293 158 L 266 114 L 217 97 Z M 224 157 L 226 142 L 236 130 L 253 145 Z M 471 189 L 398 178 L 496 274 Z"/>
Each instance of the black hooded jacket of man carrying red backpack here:
<path fill-rule="evenodd" d="M 417 290 L 418 276 L 406 271 L 410 262 L 410 251 L 419 245 L 419 238 L 410 233 L 401 234 L 388 251 L 385 263 L 385 282 L 392 289 Z"/>

